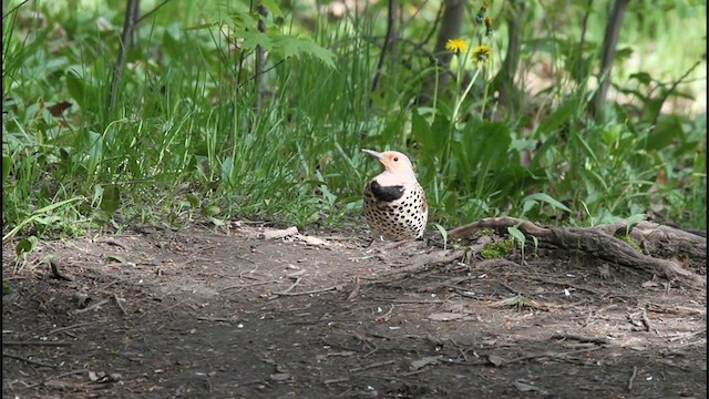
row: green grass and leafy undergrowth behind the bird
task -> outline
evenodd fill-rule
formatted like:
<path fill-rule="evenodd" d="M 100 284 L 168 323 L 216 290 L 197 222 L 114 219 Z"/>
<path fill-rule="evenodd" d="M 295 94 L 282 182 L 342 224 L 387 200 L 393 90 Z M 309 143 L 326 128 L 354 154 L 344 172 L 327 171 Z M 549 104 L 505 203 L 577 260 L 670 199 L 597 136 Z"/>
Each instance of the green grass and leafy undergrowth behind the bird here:
<path fill-rule="evenodd" d="M 10 10 L 19 2 L 9 3 Z M 584 82 L 564 72 L 583 10 L 553 20 L 549 9 L 532 7 L 525 30 L 535 39 L 523 43 L 521 70 L 551 60 L 555 74 L 527 93 L 531 108 L 522 116 L 496 110 L 491 121 L 481 117 L 483 103 L 494 106 L 483 95 L 482 78 L 456 115 L 464 79 L 454 90 L 458 98 L 441 95 L 435 108 L 415 105 L 430 64 L 411 42 L 399 43 L 399 58 L 388 60 L 380 90 L 370 94 L 384 31 L 381 4 L 340 20 L 307 6 L 296 14 L 284 9 L 282 24 L 269 18 L 267 34 L 249 37 L 247 2 L 168 2 L 138 25 L 119 105 L 107 109 L 123 6 L 93 4 L 30 1 L 3 19 L 8 239 L 230 217 L 338 225 L 359 215 L 362 186 L 377 171 L 362 147 L 409 153 L 427 188 L 431 222 L 448 227 L 496 215 L 593 225 L 648 214 L 706 228 L 706 105 L 699 115 L 676 112 L 650 123 L 665 83 L 701 55 L 675 54 L 687 37 L 672 27 L 706 25 L 703 4 L 648 11 L 643 22 L 629 14 L 637 29 L 624 28 L 624 43 L 651 57 L 618 65 L 616 90 L 633 101 L 610 103 L 603 121 L 586 112 L 593 93 L 586 83 L 605 23 L 600 7 L 587 33 Z M 430 27 L 425 19 L 434 14 L 435 4 L 429 4 L 403 37 L 421 40 Z M 96 28 L 99 17 L 110 27 Z M 222 33 L 209 24 L 217 21 Z M 472 37 L 475 29 L 466 24 L 464 33 Z M 491 44 L 504 49 L 504 25 L 497 30 Z M 258 112 L 255 42 L 270 47 L 273 66 L 264 74 L 267 93 Z M 497 51 L 493 65 L 501 57 Z M 464 68 L 470 74 L 473 65 Z M 700 70 L 677 89 L 701 98 Z M 638 72 L 650 79 L 633 75 Z M 63 101 L 72 106 L 53 115 L 51 106 Z"/>

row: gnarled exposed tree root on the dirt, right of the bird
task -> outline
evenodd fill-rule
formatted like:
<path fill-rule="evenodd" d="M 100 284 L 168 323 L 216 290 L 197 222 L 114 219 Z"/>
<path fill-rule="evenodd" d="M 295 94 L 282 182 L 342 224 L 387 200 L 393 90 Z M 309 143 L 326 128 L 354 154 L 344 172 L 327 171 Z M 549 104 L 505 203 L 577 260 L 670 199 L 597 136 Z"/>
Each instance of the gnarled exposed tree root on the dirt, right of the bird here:
<path fill-rule="evenodd" d="M 606 262 L 665 276 L 668 279 L 679 279 L 693 287 L 706 287 L 707 285 L 705 276 L 687 270 L 675 262 L 644 255 L 623 239 L 614 236 L 619 229 L 621 229 L 621 235 L 626 235 L 627 231 L 630 237 L 638 241 L 643 247 L 648 248 L 650 254 L 682 255 L 706 265 L 706 237 L 648 222 L 641 222 L 630 227 L 625 224 L 614 224 L 575 228 L 542 227 L 515 217 L 494 217 L 453 228 L 448 232 L 448 235 L 450 238 L 463 238 L 483 228 L 506 233 L 507 227 L 517 227 L 526 235 L 537 237 L 540 245 L 544 247 L 580 250 Z"/>

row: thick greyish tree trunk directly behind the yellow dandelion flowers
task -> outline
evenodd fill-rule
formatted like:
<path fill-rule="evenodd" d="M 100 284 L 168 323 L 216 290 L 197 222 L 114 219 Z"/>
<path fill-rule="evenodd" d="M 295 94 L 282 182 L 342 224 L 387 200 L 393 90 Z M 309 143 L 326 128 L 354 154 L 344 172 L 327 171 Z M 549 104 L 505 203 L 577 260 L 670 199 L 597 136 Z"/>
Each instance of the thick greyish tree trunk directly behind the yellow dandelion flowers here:
<path fill-rule="evenodd" d="M 441 73 L 440 69 L 448 69 L 453 53 L 445 51 L 445 42 L 460 35 L 463 16 L 465 14 L 465 1 L 463 0 L 445 0 L 441 4 L 443 14 L 441 16 L 441 30 L 435 41 L 433 54 L 435 58 L 434 71 L 431 71 L 423 83 L 423 89 L 419 95 L 419 103 L 430 103 L 435 93 L 438 80 L 439 90 L 448 83 L 448 73 Z"/>

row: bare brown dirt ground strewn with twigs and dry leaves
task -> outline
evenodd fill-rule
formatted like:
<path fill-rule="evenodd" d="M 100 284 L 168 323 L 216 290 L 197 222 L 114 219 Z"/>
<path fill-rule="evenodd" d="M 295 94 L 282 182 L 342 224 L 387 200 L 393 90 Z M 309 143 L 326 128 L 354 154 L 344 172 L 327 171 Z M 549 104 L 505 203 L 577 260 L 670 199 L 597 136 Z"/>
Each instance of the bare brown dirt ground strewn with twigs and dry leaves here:
<path fill-rule="evenodd" d="M 706 289 L 580 255 L 281 233 L 145 228 L 25 263 L 9 243 L 2 397 L 707 396 Z"/>

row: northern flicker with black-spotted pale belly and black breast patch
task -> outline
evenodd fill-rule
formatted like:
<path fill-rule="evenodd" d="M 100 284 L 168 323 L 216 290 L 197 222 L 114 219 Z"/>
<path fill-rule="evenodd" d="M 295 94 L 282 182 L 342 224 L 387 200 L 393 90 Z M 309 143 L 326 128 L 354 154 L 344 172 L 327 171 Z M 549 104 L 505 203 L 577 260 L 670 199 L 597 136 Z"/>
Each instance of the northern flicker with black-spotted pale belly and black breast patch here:
<path fill-rule="evenodd" d="M 364 216 L 372 238 L 402 241 L 422 237 L 429 207 L 411 161 L 395 151 L 362 151 L 384 166 L 384 171 L 364 187 Z"/>

